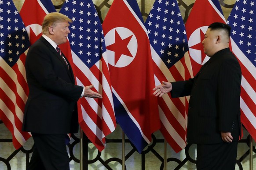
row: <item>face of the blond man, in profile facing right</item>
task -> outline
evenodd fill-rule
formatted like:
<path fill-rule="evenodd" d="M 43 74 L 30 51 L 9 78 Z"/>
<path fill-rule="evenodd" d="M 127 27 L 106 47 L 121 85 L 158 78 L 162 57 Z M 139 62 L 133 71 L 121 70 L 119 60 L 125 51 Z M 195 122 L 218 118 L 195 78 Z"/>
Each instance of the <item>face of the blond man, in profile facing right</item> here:
<path fill-rule="evenodd" d="M 69 22 L 68 21 L 63 21 L 63 22 L 59 22 L 57 23 L 54 27 L 53 27 L 53 41 L 59 45 L 59 44 L 63 44 L 66 43 L 67 41 L 67 36 L 70 33 L 69 31 Z"/>

